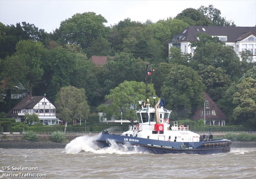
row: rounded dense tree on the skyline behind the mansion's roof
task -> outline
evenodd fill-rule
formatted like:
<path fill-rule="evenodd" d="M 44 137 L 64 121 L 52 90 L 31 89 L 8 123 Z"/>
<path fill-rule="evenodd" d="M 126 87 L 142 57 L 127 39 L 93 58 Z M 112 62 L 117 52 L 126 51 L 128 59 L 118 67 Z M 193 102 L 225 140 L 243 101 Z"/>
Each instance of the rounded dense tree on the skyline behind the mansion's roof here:
<path fill-rule="evenodd" d="M 177 14 L 176 19 L 180 19 L 189 25 L 212 26 L 211 20 L 206 18 L 199 10 L 187 8 Z"/>

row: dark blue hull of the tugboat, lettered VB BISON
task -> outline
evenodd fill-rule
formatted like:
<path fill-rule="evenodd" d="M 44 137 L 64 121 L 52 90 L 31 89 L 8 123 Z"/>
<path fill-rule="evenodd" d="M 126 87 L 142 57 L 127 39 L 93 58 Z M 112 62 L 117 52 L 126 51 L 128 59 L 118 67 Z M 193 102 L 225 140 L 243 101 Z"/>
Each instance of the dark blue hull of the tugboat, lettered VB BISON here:
<path fill-rule="evenodd" d="M 218 154 L 230 151 L 230 140 L 212 140 L 202 142 L 169 142 L 163 140 L 144 139 L 124 135 L 101 133 L 95 140 L 99 147 L 109 147 L 109 140 L 118 144 L 140 146 L 142 152 L 152 154 Z"/>

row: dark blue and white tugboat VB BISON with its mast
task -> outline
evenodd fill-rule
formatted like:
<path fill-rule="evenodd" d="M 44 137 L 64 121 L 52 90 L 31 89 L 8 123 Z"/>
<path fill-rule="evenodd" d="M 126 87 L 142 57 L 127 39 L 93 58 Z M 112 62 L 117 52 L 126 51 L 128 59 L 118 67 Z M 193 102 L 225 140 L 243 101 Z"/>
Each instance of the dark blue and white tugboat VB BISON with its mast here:
<path fill-rule="evenodd" d="M 227 139 L 213 139 L 212 135 L 200 137 L 199 134 L 188 130 L 188 126 L 175 124 L 170 126 L 169 118 L 172 111 L 164 108 L 164 100 L 160 99 L 152 105 L 147 94 L 148 63 L 146 64 L 146 101 L 139 101 L 140 110 L 137 118 L 139 124 L 130 125 L 129 130 L 121 135 L 109 134 L 102 131 L 95 143 L 99 147 L 109 147 L 109 141 L 117 144 L 140 146 L 143 152 L 152 154 L 217 154 L 230 151 L 231 141 Z"/>

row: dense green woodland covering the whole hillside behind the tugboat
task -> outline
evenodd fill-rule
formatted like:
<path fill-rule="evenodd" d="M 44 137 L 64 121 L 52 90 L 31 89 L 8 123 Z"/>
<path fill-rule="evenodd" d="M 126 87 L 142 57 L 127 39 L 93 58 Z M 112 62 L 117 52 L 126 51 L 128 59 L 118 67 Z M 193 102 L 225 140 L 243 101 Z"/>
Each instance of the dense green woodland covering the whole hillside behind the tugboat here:
<path fill-rule="evenodd" d="M 180 53 L 176 47 L 168 49 L 167 41 L 188 25 L 235 26 L 220 15 L 220 10 L 209 5 L 197 10 L 188 8 L 175 18 L 157 22 L 126 18 L 106 27 L 107 19 L 102 15 L 85 12 L 63 20 L 60 28 L 50 34 L 26 22 L 0 23 L 0 93 L 6 94 L 0 98 L 0 112 L 8 112 L 19 102 L 20 99 L 11 99 L 11 93 L 20 93 L 14 88 L 20 83 L 30 95 L 46 93 L 57 104 L 59 91 L 72 85 L 69 88 L 81 89 L 78 96 L 88 99 L 91 112 L 97 111 L 104 99 L 119 97 L 119 102 L 127 105 L 117 106 L 118 100 L 114 101 L 112 107 L 103 107 L 106 115 L 109 118 L 115 108 L 126 109 L 122 116 L 117 111 L 113 115 L 132 120 L 134 111 L 128 103 L 135 103 L 135 98 L 144 99 L 142 92 L 133 98 L 131 95 L 144 91 L 144 66 L 150 62 L 155 68 L 150 81 L 156 94 L 165 97 L 173 118 L 188 118 L 203 104 L 206 91 L 229 122 L 255 126 L 256 62 L 250 51 L 240 52 L 240 61 L 233 47 L 204 33 L 198 34 L 198 41 L 191 42 L 191 47 L 196 47 L 193 56 Z M 108 56 L 107 64 L 93 64 L 88 60 L 92 55 Z M 76 90 L 71 93 L 76 94 Z"/>

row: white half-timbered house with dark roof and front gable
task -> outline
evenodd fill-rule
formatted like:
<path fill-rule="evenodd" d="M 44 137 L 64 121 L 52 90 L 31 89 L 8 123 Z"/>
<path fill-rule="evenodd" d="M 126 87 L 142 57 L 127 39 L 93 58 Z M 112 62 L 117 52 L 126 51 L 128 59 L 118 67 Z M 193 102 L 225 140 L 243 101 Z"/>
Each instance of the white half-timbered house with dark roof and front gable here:
<path fill-rule="evenodd" d="M 15 118 L 16 122 L 23 122 L 25 113 L 37 114 L 40 122 L 44 125 L 57 125 L 59 119 L 56 118 L 55 105 L 45 96 L 25 97 L 11 111 L 9 118 Z"/>

